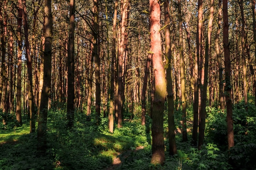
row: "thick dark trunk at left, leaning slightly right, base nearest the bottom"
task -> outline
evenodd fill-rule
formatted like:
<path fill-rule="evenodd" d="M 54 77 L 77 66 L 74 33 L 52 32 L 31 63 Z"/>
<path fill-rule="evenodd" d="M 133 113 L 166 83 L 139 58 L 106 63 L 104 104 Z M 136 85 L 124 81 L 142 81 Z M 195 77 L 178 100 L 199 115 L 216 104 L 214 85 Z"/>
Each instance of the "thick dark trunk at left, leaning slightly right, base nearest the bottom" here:
<path fill-rule="evenodd" d="M 47 128 L 47 113 L 48 113 L 48 99 L 51 89 L 51 75 L 52 75 L 52 8 L 51 0 L 45 0 L 45 51 L 43 55 L 43 89 L 39 109 L 38 119 L 38 150 L 45 153 L 46 151 L 46 128 Z"/>

